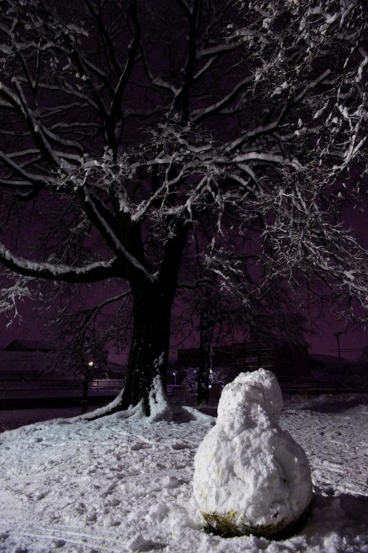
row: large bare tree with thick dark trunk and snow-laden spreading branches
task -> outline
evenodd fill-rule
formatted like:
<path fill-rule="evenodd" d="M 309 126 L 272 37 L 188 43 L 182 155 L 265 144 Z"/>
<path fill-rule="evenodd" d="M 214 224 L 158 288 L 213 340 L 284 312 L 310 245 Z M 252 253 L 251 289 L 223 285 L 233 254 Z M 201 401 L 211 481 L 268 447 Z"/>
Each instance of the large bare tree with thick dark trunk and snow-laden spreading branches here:
<path fill-rule="evenodd" d="M 322 279 L 360 317 L 367 255 L 339 210 L 367 176 L 366 22 L 363 0 L 0 0 L 0 261 L 128 285 L 111 410 L 149 414 L 165 386 L 194 231 L 244 310 Z"/>

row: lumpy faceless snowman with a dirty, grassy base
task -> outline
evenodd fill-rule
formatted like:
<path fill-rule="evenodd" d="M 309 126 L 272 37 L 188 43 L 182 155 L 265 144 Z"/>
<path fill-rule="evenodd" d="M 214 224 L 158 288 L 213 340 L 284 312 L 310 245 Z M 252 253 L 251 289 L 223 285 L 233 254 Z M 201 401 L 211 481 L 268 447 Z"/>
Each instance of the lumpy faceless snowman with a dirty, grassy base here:
<path fill-rule="evenodd" d="M 306 512 L 311 470 L 279 427 L 282 393 L 270 371 L 241 373 L 225 388 L 217 423 L 194 459 L 194 496 L 210 528 L 227 536 L 277 536 Z"/>

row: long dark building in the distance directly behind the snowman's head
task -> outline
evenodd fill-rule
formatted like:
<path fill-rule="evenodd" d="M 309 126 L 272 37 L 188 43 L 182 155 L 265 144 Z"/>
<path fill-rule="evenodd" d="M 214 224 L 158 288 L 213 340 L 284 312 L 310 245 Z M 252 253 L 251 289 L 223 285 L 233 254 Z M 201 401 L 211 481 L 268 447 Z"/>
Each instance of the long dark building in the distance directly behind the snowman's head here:
<path fill-rule="evenodd" d="M 199 348 L 178 350 L 176 370 L 199 366 Z M 308 347 L 271 346 L 257 342 L 242 342 L 228 346 L 214 346 L 212 366 L 229 367 L 230 380 L 239 373 L 255 371 L 259 367 L 273 371 L 279 379 L 293 379 L 309 375 Z"/>

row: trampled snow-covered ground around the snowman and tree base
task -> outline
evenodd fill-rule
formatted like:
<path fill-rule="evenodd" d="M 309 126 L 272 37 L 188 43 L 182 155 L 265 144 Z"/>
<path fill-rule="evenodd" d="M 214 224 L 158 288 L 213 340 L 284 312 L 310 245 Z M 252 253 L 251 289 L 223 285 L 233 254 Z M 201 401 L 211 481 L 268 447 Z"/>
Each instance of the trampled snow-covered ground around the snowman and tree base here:
<path fill-rule="evenodd" d="M 194 409 L 174 422 L 111 415 L 3 432 L 0 551 L 368 552 L 367 409 L 355 403 L 295 397 L 282 411 L 282 427 L 309 458 L 315 495 L 304 525 L 280 541 L 204 531 L 193 461 L 214 420 Z"/>

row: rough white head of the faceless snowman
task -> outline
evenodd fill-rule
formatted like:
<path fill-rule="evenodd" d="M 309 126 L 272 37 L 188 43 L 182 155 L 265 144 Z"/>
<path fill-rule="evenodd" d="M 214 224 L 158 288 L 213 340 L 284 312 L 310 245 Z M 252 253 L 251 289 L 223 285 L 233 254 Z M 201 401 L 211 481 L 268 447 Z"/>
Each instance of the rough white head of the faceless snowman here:
<path fill-rule="evenodd" d="M 217 409 L 218 422 L 237 418 L 241 413 L 265 413 L 277 424 L 282 409 L 282 393 L 271 371 L 259 368 L 252 373 L 240 373 L 223 388 Z"/>

